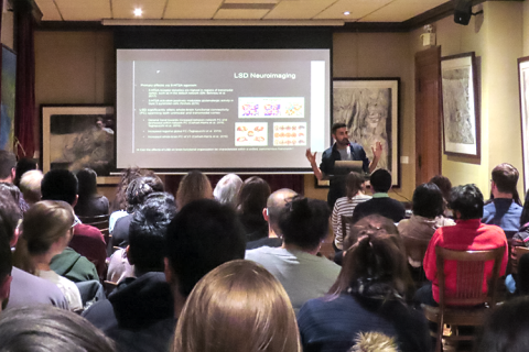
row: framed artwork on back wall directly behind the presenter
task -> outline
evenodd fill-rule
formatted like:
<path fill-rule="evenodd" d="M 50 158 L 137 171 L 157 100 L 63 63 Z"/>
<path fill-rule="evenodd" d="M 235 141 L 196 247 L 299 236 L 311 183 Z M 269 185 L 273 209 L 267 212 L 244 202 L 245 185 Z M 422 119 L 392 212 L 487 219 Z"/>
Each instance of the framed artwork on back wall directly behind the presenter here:
<path fill-rule="evenodd" d="M 349 141 L 360 144 L 373 161 L 377 142 L 382 155 L 377 168 L 393 176 L 400 186 L 399 169 L 400 78 L 335 78 L 333 81 L 333 123 L 347 125 Z"/>

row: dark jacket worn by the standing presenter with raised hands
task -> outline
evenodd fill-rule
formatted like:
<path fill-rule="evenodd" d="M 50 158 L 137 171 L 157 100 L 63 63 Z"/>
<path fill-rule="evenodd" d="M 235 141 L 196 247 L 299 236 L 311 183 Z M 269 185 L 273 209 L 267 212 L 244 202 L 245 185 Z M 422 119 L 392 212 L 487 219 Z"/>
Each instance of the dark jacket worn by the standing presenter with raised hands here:
<path fill-rule="evenodd" d="M 367 158 L 364 147 L 357 143 L 350 143 L 350 156 L 353 161 L 359 161 L 363 163 L 363 168 L 365 173 L 369 172 L 369 160 Z M 332 147 L 323 152 L 322 163 L 320 164 L 320 169 L 325 175 L 334 175 L 334 163 L 341 161 L 342 156 L 336 147 L 336 143 Z M 331 178 L 330 188 L 327 194 L 327 204 L 331 209 L 334 208 L 334 204 L 338 198 L 345 197 L 345 178 Z"/>

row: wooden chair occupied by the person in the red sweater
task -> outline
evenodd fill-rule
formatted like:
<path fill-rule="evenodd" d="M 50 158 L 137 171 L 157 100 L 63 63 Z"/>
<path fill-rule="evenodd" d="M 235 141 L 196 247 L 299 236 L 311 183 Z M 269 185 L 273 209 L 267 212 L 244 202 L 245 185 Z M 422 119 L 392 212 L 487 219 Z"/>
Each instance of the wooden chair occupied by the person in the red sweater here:
<path fill-rule="evenodd" d="M 445 292 L 444 270 L 438 270 L 439 275 L 439 307 L 423 306 L 428 320 L 438 324 L 435 332 L 435 351 L 442 351 L 442 340 L 472 341 L 474 336 L 460 336 L 457 327 L 483 326 L 488 307 L 496 305 L 496 290 L 499 276 L 499 267 L 504 257 L 505 246 L 489 251 L 451 251 L 436 248 L 438 268 L 444 267 L 445 261 L 457 262 L 456 292 Z M 483 279 L 485 263 L 494 261 L 493 276 L 488 285 L 488 292 L 483 293 Z M 482 307 L 478 307 L 483 305 Z M 452 334 L 444 334 L 444 324 L 450 324 Z M 433 334 L 433 333 L 432 333 Z"/>

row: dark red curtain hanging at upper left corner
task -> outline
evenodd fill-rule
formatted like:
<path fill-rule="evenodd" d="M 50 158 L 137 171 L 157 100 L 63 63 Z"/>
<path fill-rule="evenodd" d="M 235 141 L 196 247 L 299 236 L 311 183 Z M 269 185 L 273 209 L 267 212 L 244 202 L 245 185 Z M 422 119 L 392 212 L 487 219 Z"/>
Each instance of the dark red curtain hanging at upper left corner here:
<path fill-rule="evenodd" d="M 17 92 L 14 112 L 14 153 L 19 157 L 33 157 L 35 117 L 35 52 L 33 45 L 35 20 L 30 1 L 14 1 Z"/>

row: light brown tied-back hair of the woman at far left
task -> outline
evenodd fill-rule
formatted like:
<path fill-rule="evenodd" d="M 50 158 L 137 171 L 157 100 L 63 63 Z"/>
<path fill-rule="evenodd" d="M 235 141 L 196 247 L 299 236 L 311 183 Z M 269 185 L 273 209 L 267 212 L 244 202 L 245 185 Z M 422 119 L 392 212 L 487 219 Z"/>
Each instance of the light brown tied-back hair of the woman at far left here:
<path fill-rule="evenodd" d="M 66 235 L 73 223 L 74 210 L 67 202 L 43 200 L 34 204 L 24 215 L 22 233 L 13 254 L 13 265 L 35 274 L 32 256 L 50 251 L 53 243 Z"/>

